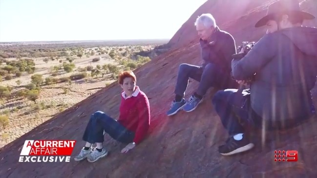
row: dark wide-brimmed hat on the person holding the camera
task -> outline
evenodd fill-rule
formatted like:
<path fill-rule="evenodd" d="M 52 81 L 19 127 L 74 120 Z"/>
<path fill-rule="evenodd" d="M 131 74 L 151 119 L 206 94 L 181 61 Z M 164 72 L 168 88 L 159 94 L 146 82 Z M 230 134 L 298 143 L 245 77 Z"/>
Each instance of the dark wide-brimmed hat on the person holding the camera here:
<path fill-rule="evenodd" d="M 266 16 L 257 21 L 255 27 L 264 26 L 269 20 L 274 20 L 275 17 L 282 14 L 293 14 L 303 20 L 315 19 L 312 14 L 300 10 L 298 0 L 278 0 L 268 6 Z"/>

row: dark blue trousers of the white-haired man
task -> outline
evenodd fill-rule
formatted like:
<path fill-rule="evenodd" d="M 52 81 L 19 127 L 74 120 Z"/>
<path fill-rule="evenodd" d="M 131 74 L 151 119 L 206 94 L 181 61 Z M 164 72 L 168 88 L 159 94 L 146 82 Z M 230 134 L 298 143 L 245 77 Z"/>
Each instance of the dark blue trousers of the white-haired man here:
<path fill-rule="evenodd" d="M 228 82 L 232 83 L 230 72 L 221 70 L 219 66 L 213 63 L 208 63 L 204 68 L 183 63 L 179 66 L 178 70 L 174 91 L 176 95 L 185 96 L 190 78 L 199 81 L 196 93 L 200 96 L 204 96 L 210 87 L 231 88 L 230 85 L 226 84 L 228 84 Z"/>

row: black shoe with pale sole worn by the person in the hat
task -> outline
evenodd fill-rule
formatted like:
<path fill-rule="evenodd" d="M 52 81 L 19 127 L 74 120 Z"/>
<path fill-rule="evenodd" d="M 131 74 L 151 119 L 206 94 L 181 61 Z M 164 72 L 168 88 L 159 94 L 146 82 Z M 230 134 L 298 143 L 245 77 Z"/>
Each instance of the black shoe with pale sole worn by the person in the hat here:
<path fill-rule="evenodd" d="M 254 144 L 246 136 L 243 136 L 241 140 L 235 140 L 232 136 L 227 139 L 226 144 L 219 146 L 218 150 L 221 155 L 229 156 L 250 150 L 253 147 Z"/>

